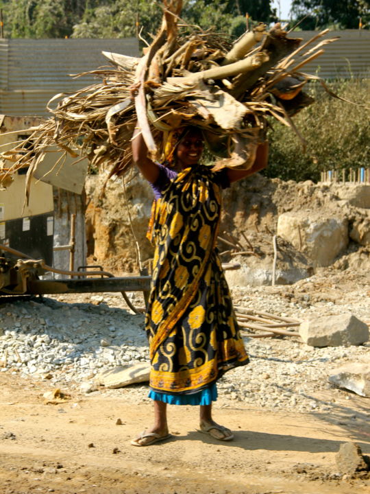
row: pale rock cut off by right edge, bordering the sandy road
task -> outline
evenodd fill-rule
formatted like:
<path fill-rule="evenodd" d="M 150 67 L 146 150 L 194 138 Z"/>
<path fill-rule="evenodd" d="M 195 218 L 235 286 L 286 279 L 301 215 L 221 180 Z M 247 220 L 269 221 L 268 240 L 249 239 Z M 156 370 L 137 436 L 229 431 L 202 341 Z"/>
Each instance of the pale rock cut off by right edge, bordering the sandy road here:
<path fill-rule="evenodd" d="M 353 391 L 356 395 L 370 398 L 370 364 L 347 364 L 335 369 L 329 381 Z"/>

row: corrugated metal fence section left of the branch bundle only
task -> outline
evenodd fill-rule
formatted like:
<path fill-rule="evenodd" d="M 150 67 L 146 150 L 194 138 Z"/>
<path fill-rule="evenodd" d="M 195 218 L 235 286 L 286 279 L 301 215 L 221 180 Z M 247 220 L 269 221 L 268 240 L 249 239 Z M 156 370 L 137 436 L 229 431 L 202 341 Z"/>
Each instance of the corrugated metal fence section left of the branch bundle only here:
<path fill-rule="evenodd" d="M 0 39 L 0 113 L 49 116 L 46 105 L 53 95 L 95 82 L 69 74 L 110 65 L 101 51 L 140 56 L 136 38 Z"/>

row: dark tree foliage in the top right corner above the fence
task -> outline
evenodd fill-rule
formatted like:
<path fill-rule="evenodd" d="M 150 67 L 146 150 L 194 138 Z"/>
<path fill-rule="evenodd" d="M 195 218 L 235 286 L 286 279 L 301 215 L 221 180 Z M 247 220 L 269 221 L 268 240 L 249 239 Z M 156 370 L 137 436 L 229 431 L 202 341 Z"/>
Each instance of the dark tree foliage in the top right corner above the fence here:
<path fill-rule="evenodd" d="M 369 29 L 369 0 L 293 0 L 293 19 L 302 19 L 302 30 L 322 27 L 337 29 L 358 29 L 360 18 L 363 27 Z"/>

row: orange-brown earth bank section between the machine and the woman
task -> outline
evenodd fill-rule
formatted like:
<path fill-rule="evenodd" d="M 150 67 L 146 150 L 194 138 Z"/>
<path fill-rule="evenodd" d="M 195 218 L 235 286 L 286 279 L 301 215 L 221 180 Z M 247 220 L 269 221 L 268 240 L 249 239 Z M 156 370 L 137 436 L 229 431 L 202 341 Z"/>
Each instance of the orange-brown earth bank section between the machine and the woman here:
<path fill-rule="evenodd" d="M 86 180 L 88 260 L 101 263 L 113 274 L 138 272 L 137 244 L 141 261 L 153 257 L 146 238 L 153 191 L 140 176 L 132 178 L 125 188 L 121 180 L 108 180 L 104 188 L 106 178 L 89 176 Z"/>

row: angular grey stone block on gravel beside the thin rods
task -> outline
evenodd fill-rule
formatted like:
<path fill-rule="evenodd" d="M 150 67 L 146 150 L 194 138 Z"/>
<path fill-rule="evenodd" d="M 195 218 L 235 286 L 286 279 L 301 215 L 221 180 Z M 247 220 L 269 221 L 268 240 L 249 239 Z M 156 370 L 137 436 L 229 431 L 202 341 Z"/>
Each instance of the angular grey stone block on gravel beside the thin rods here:
<path fill-rule="evenodd" d="M 338 314 L 306 320 L 299 334 L 310 346 L 350 346 L 369 340 L 369 327 L 353 314 Z"/>

